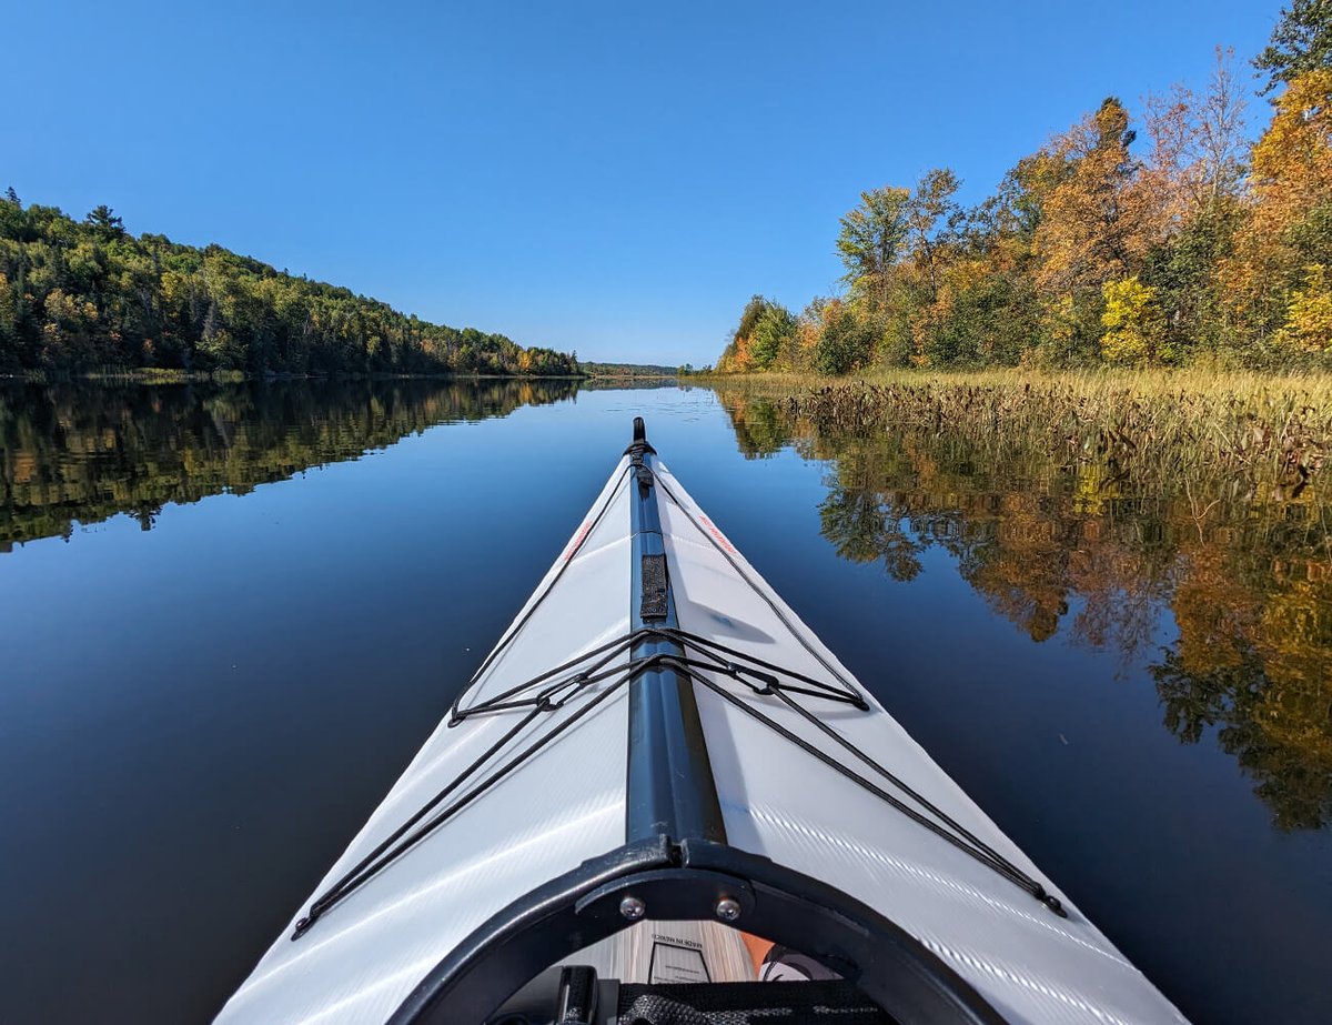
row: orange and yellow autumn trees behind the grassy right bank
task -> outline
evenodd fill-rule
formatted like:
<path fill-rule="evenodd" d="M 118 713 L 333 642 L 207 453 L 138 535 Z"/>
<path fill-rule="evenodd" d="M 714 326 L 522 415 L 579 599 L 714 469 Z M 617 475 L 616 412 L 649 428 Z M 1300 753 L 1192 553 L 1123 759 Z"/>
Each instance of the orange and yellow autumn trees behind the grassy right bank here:
<path fill-rule="evenodd" d="M 1200 92 L 1106 99 L 970 208 L 948 168 L 862 193 L 844 291 L 754 296 L 715 369 L 1332 367 L 1332 4 L 1251 64 L 1256 96 L 1217 48 Z"/>

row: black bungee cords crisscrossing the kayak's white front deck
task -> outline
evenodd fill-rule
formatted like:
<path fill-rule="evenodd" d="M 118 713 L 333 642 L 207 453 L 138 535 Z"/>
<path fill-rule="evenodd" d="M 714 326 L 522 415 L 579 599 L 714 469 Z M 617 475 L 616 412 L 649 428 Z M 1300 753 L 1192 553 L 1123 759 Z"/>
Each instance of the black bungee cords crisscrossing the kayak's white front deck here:
<path fill-rule="evenodd" d="M 643 658 L 631 660 L 622 665 L 610 665 L 610 662 L 630 652 L 639 641 L 651 638 L 674 641 L 682 650 L 686 652 L 686 654 L 681 656 L 670 652 L 659 652 Z M 697 657 L 691 657 L 690 652 Z M 839 734 L 835 729 L 823 722 L 814 712 L 793 697 L 793 694 L 805 694 L 807 697 L 818 697 L 848 704 L 862 712 L 868 710 L 870 705 L 854 689 L 848 686 L 847 689 L 834 686 L 826 681 L 786 669 L 745 652 L 739 652 L 734 648 L 729 648 L 709 637 L 699 637 L 678 628 L 645 626 L 615 640 L 606 641 L 605 644 L 601 644 L 575 658 L 571 658 L 553 669 L 547 669 L 522 684 L 511 686 L 486 701 L 473 705 L 472 708 L 460 708 L 456 702 L 448 722 L 450 728 L 457 726 L 472 717 L 500 714 L 503 712 L 515 712 L 522 709 L 526 709 L 526 712 L 470 765 L 460 772 L 453 781 L 450 781 L 442 790 L 422 805 L 402 825 L 385 837 L 328 890 L 320 894 L 310 904 L 309 912 L 296 922 L 292 938 L 298 940 L 304 936 L 316 921 L 333 908 L 333 905 L 362 886 L 376 873 L 402 856 L 428 834 L 438 829 L 454 814 L 485 794 L 519 765 L 526 762 L 542 748 L 565 733 L 577 721 L 606 701 L 611 694 L 617 693 L 621 688 L 643 673 L 651 669 L 662 668 L 674 669 L 682 673 L 747 716 L 762 722 L 778 736 L 795 744 L 798 748 L 840 773 L 847 780 L 855 782 L 866 792 L 880 798 L 888 806 L 902 812 L 914 822 L 918 822 L 920 826 L 946 840 L 963 853 L 970 854 L 978 862 L 1010 880 L 1044 904 L 1055 914 L 1067 917 L 1067 913 L 1059 900 L 1050 894 L 1040 882 L 1024 873 L 1020 868 L 1014 865 L 994 848 L 934 805 L 928 798 L 891 773 L 887 768 L 862 752 L 851 744 L 851 741 Z M 562 673 L 565 673 L 565 676 L 561 676 Z M 777 722 L 758 708 L 754 708 L 751 702 L 743 701 L 739 696 L 721 686 L 715 680 L 709 677 L 707 673 L 730 677 L 737 682 L 743 684 L 755 697 L 778 698 L 783 705 L 819 729 L 819 732 L 826 734 L 843 750 L 870 766 L 888 785 L 896 788 L 903 797 L 914 801 L 919 805 L 919 809 L 923 810 L 912 808 L 906 804 L 902 797 L 888 793 L 883 789 L 883 786 L 866 778 L 842 761 L 830 756 L 827 752 L 821 750 L 805 737 L 793 733 L 790 729 Z M 786 680 L 782 677 L 786 677 Z M 839 682 L 844 684 L 840 678 Z M 472 789 L 454 797 L 458 789 L 472 780 L 478 772 L 488 766 L 494 766 L 498 756 L 505 752 L 510 742 L 523 733 L 527 726 L 533 725 L 543 713 L 549 714 L 563 709 L 565 705 L 567 705 L 573 698 L 586 693 L 599 684 L 603 684 L 602 689 L 590 701 L 571 712 L 551 729 L 531 738 L 527 746 L 518 750 L 510 750 L 507 760 L 500 764 L 498 768 L 494 768 L 494 772 L 476 782 Z M 533 693 L 534 689 L 535 693 Z M 454 797 L 454 800 L 444 808 L 440 808 L 450 797 Z M 434 812 L 433 816 L 432 812 Z"/>

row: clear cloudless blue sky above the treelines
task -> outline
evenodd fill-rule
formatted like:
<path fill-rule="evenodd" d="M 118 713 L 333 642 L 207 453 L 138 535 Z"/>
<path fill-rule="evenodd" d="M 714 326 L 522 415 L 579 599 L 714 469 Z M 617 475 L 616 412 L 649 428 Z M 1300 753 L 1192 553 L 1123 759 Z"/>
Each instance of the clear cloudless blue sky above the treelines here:
<path fill-rule="evenodd" d="M 15 3 L 0 187 L 583 359 L 711 363 L 836 288 L 862 189 L 963 199 L 1279 0 Z M 1247 76 L 1247 65 L 1241 68 Z M 1255 101 L 1255 120 L 1265 116 Z"/>

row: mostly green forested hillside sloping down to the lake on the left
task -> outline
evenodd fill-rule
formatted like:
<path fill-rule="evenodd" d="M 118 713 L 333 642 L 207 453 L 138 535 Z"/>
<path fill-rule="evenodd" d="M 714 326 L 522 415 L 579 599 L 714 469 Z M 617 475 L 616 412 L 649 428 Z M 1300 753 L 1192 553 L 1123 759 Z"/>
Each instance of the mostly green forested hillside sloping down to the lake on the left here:
<path fill-rule="evenodd" d="M 220 245 L 0 197 L 0 375 L 577 375 L 571 355 L 400 313 Z"/>

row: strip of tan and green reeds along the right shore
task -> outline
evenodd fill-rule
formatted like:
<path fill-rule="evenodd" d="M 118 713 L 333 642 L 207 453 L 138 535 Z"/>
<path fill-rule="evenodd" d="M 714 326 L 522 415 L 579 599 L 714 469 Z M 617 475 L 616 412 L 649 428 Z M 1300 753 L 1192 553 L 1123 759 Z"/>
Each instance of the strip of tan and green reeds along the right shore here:
<path fill-rule="evenodd" d="M 1229 483 L 1297 499 L 1332 477 L 1325 375 L 903 372 L 725 387 L 777 401 L 821 432 L 950 435 L 1000 457 L 1039 451 L 1063 465 L 1100 464 L 1139 484 Z"/>

